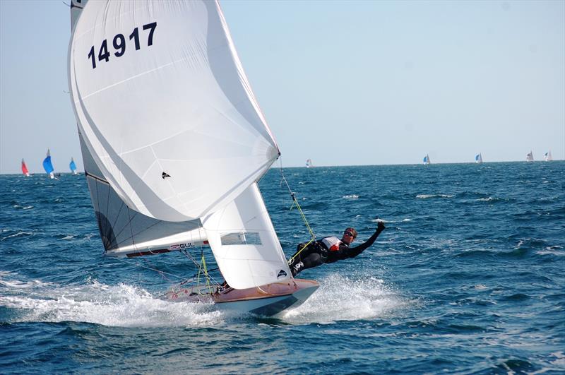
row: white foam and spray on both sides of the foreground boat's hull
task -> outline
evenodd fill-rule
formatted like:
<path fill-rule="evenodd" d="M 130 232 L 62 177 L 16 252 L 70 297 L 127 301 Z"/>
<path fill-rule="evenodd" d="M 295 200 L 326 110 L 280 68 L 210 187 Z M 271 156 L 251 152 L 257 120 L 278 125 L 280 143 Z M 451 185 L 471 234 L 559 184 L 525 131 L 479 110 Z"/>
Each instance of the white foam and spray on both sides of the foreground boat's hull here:
<path fill-rule="evenodd" d="M 58 285 L 40 280 L 16 280 L 0 273 L 0 321 L 76 321 L 117 327 L 210 326 L 242 319 L 213 304 L 170 302 L 132 285 Z M 331 323 L 386 318 L 406 304 L 383 280 L 351 280 L 338 274 L 321 280 L 321 287 L 302 306 L 283 313 L 287 323 Z"/>

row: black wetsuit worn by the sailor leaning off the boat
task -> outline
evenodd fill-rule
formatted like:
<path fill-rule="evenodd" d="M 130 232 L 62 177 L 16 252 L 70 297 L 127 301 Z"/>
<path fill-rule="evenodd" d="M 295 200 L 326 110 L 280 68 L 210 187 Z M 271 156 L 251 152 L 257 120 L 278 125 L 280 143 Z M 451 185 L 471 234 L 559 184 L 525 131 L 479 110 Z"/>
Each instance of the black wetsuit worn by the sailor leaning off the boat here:
<path fill-rule="evenodd" d="M 298 275 L 298 273 L 306 268 L 320 266 L 323 263 L 333 263 L 347 258 L 355 258 L 355 256 L 358 256 L 365 249 L 371 246 L 375 242 L 376 237 L 379 237 L 379 234 L 381 234 L 383 230 L 384 228 L 377 228 L 366 242 L 363 242 L 358 246 L 350 247 L 344 242 L 341 242 L 339 249 L 335 251 L 329 251 L 326 244 L 324 244 L 321 239 L 309 244 L 307 248 L 302 251 L 300 251 L 300 249 L 304 247 L 304 244 L 298 244 L 297 252 L 293 255 L 292 263 L 290 263 L 292 275 Z M 304 266 L 295 271 L 295 265 L 299 262 L 302 262 Z"/>

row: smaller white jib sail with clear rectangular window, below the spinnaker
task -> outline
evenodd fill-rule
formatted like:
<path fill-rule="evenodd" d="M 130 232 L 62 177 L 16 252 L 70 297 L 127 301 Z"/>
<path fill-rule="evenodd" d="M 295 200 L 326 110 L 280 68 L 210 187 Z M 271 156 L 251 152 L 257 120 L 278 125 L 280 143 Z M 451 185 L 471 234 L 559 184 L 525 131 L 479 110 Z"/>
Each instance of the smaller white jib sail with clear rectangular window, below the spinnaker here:
<path fill-rule="evenodd" d="M 290 269 L 257 184 L 202 219 L 227 283 L 245 289 L 290 278 Z"/>

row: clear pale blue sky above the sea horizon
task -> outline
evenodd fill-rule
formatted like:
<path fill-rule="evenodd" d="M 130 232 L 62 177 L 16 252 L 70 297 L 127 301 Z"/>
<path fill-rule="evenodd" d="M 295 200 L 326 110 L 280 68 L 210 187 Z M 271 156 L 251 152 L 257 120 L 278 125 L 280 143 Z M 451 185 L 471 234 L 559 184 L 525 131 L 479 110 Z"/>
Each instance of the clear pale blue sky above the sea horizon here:
<path fill-rule="evenodd" d="M 565 1 L 220 4 L 283 167 L 565 159 Z M 83 168 L 70 28 L 0 0 L 0 173 Z"/>

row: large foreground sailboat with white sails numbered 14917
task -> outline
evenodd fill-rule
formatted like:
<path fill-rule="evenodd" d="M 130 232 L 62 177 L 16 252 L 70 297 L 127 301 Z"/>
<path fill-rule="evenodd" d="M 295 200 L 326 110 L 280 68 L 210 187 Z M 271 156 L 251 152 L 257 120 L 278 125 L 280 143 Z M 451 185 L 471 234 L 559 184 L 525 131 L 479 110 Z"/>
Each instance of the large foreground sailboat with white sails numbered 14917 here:
<path fill-rule="evenodd" d="M 165 298 L 269 316 L 302 304 L 319 283 L 292 278 L 259 191 L 280 150 L 218 2 L 72 0 L 71 28 L 71 100 L 105 254 L 209 246 L 226 283 L 202 256 L 198 277 Z"/>

